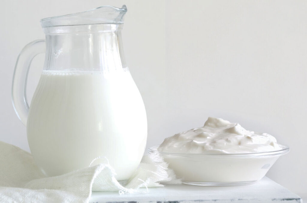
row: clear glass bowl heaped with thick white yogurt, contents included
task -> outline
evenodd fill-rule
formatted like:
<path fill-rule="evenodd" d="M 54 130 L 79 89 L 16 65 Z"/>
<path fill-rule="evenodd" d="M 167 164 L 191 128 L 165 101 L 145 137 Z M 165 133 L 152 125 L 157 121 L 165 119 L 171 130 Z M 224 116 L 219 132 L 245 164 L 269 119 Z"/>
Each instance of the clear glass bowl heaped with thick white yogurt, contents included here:
<path fill-rule="evenodd" d="M 168 137 L 149 153 L 162 155 L 183 183 L 232 186 L 260 180 L 289 150 L 267 133 L 209 117 L 203 127 Z"/>

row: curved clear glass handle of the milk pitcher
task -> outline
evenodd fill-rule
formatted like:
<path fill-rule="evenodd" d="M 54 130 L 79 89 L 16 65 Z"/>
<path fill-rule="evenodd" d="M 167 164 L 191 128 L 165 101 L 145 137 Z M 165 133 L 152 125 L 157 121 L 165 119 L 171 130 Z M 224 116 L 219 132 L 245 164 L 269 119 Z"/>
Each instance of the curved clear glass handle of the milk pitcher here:
<path fill-rule="evenodd" d="M 12 101 L 14 110 L 26 126 L 29 113 L 29 105 L 26 96 L 27 78 L 33 58 L 40 53 L 45 53 L 45 40 L 35 40 L 25 45 L 21 50 L 15 65 L 12 83 Z"/>

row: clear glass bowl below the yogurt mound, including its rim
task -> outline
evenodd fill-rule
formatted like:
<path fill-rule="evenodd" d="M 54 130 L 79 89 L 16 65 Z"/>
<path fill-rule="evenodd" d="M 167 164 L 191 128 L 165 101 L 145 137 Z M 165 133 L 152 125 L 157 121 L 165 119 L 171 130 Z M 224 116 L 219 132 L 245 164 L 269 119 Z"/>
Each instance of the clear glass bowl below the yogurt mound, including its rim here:
<path fill-rule="evenodd" d="M 185 184 L 240 186 L 263 178 L 275 161 L 290 151 L 281 146 L 278 151 L 248 154 L 185 154 L 158 151 L 159 146 L 150 147 L 148 152 L 160 154 Z"/>

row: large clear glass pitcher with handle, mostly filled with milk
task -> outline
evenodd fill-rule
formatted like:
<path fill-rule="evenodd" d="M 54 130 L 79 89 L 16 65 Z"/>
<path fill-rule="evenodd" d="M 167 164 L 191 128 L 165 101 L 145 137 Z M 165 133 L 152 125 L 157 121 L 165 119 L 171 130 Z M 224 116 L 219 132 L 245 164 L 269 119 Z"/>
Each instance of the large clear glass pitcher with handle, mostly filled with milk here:
<path fill-rule="evenodd" d="M 18 56 L 12 98 L 27 126 L 31 153 L 47 176 L 109 162 L 118 180 L 130 178 L 146 146 L 144 103 L 126 66 L 121 30 L 126 6 L 102 6 L 41 20 L 46 40 Z M 29 66 L 45 52 L 30 107 Z M 97 159 L 100 158 L 100 159 Z"/>

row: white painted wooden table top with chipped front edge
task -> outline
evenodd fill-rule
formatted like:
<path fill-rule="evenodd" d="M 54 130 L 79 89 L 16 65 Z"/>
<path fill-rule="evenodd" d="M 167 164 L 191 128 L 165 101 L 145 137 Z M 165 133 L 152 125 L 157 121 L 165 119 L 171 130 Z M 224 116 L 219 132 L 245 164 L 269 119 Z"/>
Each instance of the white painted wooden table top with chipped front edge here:
<path fill-rule="evenodd" d="M 143 190 L 143 189 L 142 189 Z M 143 191 L 146 191 L 144 189 Z M 247 186 L 191 186 L 167 185 L 165 187 L 149 188 L 148 193 L 122 194 L 117 192 L 93 192 L 90 202 L 157 202 L 157 203 L 185 203 L 185 202 L 302 202 L 302 199 L 288 189 L 271 179 L 262 180 Z"/>

